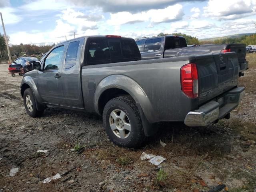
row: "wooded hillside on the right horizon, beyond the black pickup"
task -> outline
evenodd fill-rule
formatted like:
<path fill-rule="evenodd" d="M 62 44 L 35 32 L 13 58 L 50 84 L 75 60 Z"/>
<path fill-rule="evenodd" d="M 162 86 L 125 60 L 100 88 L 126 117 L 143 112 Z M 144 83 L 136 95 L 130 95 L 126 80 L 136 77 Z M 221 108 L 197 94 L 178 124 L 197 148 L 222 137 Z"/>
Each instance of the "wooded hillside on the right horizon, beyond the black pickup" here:
<path fill-rule="evenodd" d="M 230 44 L 230 43 L 244 43 L 246 45 L 256 45 L 256 34 L 245 35 L 238 38 L 223 38 L 211 41 L 200 41 L 200 44 Z"/>

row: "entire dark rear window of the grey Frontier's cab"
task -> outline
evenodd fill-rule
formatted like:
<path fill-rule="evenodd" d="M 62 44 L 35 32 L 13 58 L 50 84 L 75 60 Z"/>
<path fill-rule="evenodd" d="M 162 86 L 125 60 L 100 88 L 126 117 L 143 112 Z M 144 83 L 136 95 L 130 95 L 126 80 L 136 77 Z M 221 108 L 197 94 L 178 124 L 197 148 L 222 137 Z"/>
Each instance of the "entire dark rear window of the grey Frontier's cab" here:
<path fill-rule="evenodd" d="M 88 65 L 141 60 L 140 51 L 133 39 L 90 38 L 88 41 Z"/>

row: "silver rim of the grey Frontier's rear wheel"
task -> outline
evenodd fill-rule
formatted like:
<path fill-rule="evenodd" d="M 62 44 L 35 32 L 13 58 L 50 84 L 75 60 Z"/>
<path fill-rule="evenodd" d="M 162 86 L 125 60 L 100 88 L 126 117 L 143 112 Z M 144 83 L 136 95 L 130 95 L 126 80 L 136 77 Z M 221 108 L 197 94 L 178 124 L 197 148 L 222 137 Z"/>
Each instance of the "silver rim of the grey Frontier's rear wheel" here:
<path fill-rule="evenodd" d="M 110 113 L 109 124 L 111 130 L 118 138 L 125 139 L 130 135 L 130 120 L 122 110 L 115 109 Z"/>

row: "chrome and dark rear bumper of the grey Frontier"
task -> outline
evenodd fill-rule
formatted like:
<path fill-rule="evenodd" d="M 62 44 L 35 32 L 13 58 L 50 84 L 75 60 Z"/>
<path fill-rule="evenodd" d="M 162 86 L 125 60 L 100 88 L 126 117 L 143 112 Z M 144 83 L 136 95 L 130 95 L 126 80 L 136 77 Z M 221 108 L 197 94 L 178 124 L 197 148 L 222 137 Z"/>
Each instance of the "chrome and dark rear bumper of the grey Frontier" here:
<path fill-rule="evenodd" d="M 244 95 L 244 87 L 234 88 L 218 100 L 212 100 L 200 106 L 198 110 L 188 112 L 184 123 L 190 127 L 207 126 L 218 119 L 224 118 L 236 108 Z"/>

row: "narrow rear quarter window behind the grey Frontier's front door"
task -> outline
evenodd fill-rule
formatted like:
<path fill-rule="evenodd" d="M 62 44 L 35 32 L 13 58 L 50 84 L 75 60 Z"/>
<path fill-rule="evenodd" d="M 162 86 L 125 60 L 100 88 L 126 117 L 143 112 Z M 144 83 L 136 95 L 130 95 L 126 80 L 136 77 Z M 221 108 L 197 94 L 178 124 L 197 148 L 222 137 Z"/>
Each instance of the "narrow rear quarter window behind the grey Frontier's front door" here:
<path fill-rule="evenodd" d="M 65 60 L 66 69 L 76 65 L 79 43 L 79 41 L 75 41 L 69 44 Z"/>

